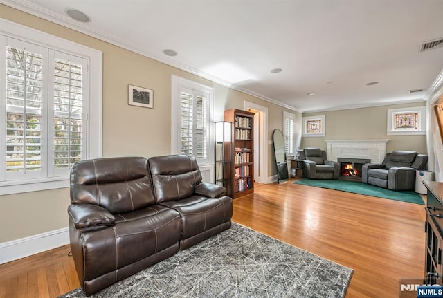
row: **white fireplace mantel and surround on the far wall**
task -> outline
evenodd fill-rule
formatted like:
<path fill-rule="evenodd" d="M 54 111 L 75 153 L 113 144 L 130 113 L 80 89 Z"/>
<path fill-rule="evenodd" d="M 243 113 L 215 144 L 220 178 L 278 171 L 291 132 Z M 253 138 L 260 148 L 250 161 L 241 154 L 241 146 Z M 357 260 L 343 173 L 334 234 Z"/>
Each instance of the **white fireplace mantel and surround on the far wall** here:
<path fill-rule="evenodd" d="M 381 163 L 386 156 L 386 143 L 381 140 L 325 140 L 329 160 L 337 158 L 369 158 L 372 163 Z"/>

